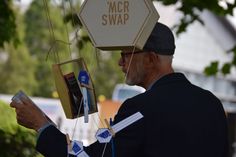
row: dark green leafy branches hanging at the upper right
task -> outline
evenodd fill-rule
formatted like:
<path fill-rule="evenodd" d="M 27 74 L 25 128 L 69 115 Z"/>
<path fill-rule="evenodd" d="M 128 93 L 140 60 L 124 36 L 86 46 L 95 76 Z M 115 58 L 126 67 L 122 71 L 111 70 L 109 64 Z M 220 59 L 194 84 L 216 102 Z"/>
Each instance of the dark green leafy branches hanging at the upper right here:
<path fill-rule="evenodd" d="M 158 1 L 158 0 L 155 0 Z M 207 9 L 213 12 L 217 16 L 232 15 L 236 9 L 236 1 L 227 0 L 207 0 L 207 1 L 195 1 L 195 0 L 159 0 L 164 5 L 175 5 L 178 4 L 177 10 L 183 13 L 180 23 L 175 27 L 177 28 L 177 35 L 186 31 L 186 28 L 195 21 L 199 21 L 204 24 L 201 20 L 200 13 Z M 232 67 L 236 66 L 236 43 L 235 46 L 228 50 L 233 53 L 232 60 L 225 63 L 222 67 L 219 67 L 219 62 L 214 61 L 209 64 L 204 70 L 206 75 L 216 75 L 218 72 L 223 75 L 229 74 Z"/>

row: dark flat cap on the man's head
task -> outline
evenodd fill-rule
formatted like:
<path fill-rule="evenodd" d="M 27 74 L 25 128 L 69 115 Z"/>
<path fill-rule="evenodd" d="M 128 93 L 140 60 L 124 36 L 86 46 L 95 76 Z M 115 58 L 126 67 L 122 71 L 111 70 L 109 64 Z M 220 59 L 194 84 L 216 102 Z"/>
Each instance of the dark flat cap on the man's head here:
<path fill-rule="evenodd" d="M 173 55 L 175 52 L 175 39 L 170 28 L 157 22 L 143 47 L 143 51 L 152 51 L 161 55 Z"/>

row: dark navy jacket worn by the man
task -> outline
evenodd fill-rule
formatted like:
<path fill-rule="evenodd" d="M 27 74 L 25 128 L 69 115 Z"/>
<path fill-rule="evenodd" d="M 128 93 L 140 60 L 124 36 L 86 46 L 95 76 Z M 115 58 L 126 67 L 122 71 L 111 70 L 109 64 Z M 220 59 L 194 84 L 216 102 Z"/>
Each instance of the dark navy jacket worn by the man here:
<path fill-rule="evenodd" d="M 191 84 L 183 74 L 159 79 L 145 93 L 126 100 L 114 123 L 141 112 L 144 116 L 115 135 L 104 157 L 227 157 L 227 122 L 221 102 Z M 104 144 L 85 148 L 100 157 Z M 66 157 L 65 135 L 50 126 L 40 135 L 37 150 L 47 157 Z"/>

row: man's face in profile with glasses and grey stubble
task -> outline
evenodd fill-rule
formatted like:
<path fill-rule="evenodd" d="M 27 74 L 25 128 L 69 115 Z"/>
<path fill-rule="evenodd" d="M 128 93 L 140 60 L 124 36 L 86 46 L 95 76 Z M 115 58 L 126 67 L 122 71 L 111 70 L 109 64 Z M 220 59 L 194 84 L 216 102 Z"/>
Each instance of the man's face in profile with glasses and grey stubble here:
<path fill-rule="evenodd" d="M 121 52 L 121 58 L 119 60 L 119 65 L 122 71 L 126 75 L 126 83 L 128 85 L 143 85 L 145 78 L 144 69 L 144 52 L 143 51 L 123 51 Z"/>

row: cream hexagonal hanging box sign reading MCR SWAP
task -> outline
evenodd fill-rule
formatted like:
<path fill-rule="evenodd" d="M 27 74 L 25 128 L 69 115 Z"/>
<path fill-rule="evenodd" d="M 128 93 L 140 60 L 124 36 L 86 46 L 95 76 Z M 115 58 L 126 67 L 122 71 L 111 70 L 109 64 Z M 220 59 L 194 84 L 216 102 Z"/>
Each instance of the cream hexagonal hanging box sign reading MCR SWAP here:
<path fill-rule="evenodd" d="M 159 14 L 151 0 L 85 0 L 79 18 L 101 50 L 142 49 Z"/>

